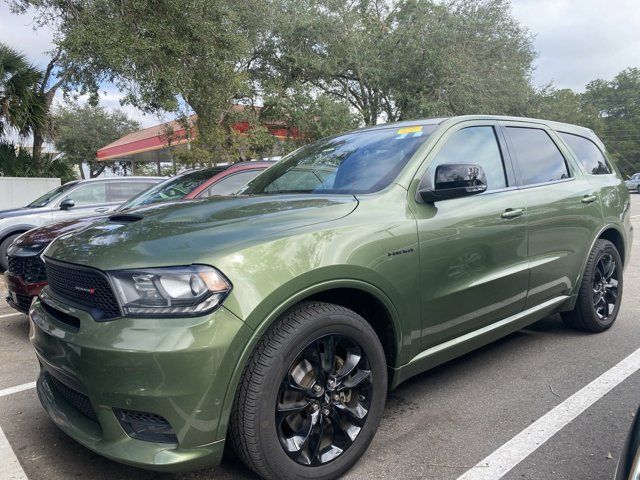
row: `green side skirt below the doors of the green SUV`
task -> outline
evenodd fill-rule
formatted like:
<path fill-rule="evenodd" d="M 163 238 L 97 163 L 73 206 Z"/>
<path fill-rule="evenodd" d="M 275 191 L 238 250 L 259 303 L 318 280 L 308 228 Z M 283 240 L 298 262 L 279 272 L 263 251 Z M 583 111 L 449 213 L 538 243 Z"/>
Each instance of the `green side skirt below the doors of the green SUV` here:
<path fill-rule="evenodd" d="M 544 317 L 555 313 L 558 307 L 563 306 L 571 297 L 561 295 L 535 307 L 531 307 L 520 313 L 507 317 L 503 320 L 479 328 L 473 332 L 466 333 L 460 337 L 448 340 L 440 345 L 431 347 L 415 357 L 409 363 L 396 369 L 392 374 L 392 382 L 390 389 L 396 388 L 408 378 L 418 375 L 430 368 L 453 360 L 465 353 L 471 352 L 476 348 L 482 347 L 510 333 L 516 332 Z"/>

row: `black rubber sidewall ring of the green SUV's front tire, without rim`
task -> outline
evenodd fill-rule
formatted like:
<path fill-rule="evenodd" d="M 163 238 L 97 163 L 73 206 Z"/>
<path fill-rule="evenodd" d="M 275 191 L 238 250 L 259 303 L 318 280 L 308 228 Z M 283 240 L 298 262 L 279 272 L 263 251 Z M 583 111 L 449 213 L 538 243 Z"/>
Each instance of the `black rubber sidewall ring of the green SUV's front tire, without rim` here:
<path fill-rule="evenodd" d="M 373 329 L 356 318 L 332 313 L 318 315 L 315 321 L 296 330 L 289 337 L 279 355 L 269 365 L 265 389 L 256 411 L 259 438 L 264 458 L 278 478 L 335 478 L 351 468 L 364 453 L 378 429 L 387 393 L 387 372 L 384 352 Z M 321 323 L 320 323 L 321 322 Z M 314 340 L 325 335 L 339 334 L 355 340 L 369 360 L 373 377 L 373 395 L 367 421 L 355 442 L 338 458 L 318 467 L 305 467 L 292 460 L 282 448 L 277 436 L 275 405 L 287 369 L 296 357 Z"/>

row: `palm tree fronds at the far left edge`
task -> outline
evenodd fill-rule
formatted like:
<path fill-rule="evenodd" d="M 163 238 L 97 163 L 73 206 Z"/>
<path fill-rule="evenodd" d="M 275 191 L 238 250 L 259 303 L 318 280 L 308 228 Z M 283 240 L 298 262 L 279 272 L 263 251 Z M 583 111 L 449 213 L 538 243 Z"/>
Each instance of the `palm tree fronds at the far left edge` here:
<path fill-rule="evenodd" d="M 0 43 L 0 137 L 10 128 L 28 135 L 45 126 L 46 108 L 37 90 L 42 75 L 24 55 Z"/>

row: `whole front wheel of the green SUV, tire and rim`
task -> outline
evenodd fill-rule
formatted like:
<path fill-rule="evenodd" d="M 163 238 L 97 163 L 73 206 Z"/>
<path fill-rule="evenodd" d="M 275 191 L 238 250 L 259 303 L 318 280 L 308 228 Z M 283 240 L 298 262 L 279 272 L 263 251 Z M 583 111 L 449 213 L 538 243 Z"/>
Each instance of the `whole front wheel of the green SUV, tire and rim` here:
<path fill-rule="evenodd" d="M 338 305 L 301 304 L 269 328 L 245 369 L 232 446 L 266 479 L 336 478 L 373 439 L 386 392 L 371 326 Z"/>

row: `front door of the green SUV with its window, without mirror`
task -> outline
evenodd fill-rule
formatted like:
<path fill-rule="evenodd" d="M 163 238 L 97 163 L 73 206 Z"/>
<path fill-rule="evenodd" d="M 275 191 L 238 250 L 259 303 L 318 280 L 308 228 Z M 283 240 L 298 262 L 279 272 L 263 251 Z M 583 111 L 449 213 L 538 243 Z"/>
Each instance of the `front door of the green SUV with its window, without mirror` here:
<path fill-rule="evenodd" d="M 423 349 L 520 312 L 529 279 L 526 206 L 498 125 L 452 127 L 430 157 L 424 175 L 441 164 L 479 164 L 487 191 L 413 204 Z"/>

